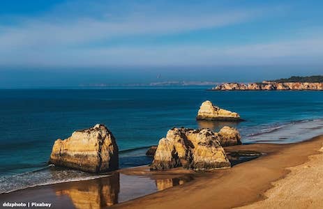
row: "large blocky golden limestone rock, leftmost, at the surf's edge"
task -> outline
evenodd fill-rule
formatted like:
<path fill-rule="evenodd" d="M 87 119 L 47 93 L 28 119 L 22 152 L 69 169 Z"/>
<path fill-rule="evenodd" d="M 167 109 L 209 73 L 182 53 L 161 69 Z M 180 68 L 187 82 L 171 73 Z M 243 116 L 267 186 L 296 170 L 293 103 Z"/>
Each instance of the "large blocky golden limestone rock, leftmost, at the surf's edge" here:
<path fill-rule="evenodd" d="M 95 125 L 73 132 L 68 139 L 57 139 L 52 148 L 50 163 L 100 173 L 119 167 L 118 146 L 105 125 Z"/>

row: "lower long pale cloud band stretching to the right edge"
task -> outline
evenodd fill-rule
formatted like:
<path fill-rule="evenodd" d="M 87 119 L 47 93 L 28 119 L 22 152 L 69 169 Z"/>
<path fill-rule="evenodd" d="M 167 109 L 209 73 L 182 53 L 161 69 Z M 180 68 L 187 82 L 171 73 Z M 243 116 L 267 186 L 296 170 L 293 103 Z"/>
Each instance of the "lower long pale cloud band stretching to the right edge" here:
<path fill-rule="evenodd" d="M 111 65 L 257 65 L 273 63 L 322 64 L 323 40 L 216 47 L 177 45 L 159 47 L 113 47 L 70 49 L 66 52 L 32 51 L 20 56 L 26 65 L 111 66 Z M 6 58 L 0 57 L 1 62 Z"/>

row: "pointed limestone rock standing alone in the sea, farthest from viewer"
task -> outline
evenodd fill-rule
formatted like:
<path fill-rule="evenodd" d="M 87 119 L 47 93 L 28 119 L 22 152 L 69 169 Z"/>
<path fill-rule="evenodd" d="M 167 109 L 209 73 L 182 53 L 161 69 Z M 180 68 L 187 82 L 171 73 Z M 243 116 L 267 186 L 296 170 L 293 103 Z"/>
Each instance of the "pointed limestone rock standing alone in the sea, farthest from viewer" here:
<path fill-rule="evenodd" d="M 199 111 L 197 112 L 196 119 L 211 121 L 241 121 L 239 114 L 216 107 L 209 100 L 202 103 Z"/>

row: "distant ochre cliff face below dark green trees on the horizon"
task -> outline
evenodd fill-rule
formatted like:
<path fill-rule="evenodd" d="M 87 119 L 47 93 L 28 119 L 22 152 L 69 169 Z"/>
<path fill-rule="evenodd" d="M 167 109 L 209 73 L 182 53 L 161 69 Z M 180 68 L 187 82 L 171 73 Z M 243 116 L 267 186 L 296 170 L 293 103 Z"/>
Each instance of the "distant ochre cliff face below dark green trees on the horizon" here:
<path fill-rule="evenodd" d="M 245 91 L 245 90 L 315 90 L 322 91 L 323 83 L 310 83 L 310 82 L 262 82 L 262 83 L 250 83 L 250 84 L 237 84 L 237 83 L 225 83 L 212 88 L 215 91 Z"/>

